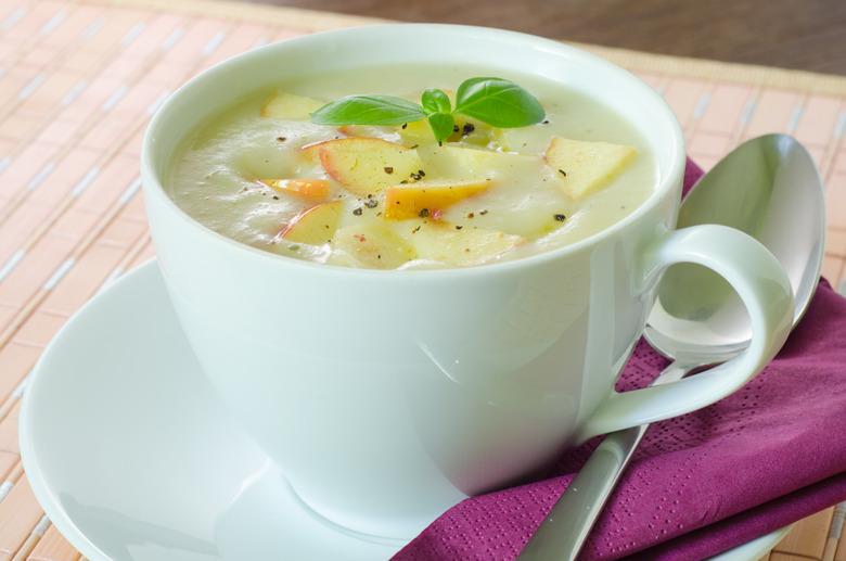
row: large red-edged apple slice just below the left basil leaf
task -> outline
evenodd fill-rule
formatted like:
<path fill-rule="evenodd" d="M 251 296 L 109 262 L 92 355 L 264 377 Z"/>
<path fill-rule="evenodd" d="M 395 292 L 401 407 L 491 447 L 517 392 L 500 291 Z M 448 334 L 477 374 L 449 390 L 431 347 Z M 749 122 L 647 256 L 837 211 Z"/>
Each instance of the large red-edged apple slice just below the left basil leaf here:
<path fill-rule="evenodd" d="M 376 194 L 387 187 L 420 179 L 423 164 L 413 149 L 377 138 L 339 138 L 312 144 L 323 169 L 354 193 Z"/>

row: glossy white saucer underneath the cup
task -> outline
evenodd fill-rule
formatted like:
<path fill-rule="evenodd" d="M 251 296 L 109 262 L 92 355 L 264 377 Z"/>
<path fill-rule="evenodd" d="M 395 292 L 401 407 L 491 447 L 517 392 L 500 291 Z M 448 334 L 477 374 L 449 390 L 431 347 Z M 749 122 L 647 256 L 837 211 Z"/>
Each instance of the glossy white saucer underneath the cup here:
<path fill-rule="evenodd" d="M 59 332 L 20 423 L 36 497 L 91 561 L 384 560 L 403 545 L 360 539 L 300 506 L 207 384 L 155 262 Z M 786 530 L 714 559 L 758 559 Z"/>

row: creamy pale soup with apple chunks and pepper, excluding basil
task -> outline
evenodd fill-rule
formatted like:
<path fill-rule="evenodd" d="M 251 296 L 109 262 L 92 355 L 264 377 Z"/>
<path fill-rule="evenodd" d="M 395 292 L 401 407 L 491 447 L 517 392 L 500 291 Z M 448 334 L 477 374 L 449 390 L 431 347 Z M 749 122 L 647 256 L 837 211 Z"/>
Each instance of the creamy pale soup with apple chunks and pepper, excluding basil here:
<path fill-rule="evenodd" d="M 425 120 L 316 125 L 309 112 L 349 94 L 419 101 L 484 69 L 359 68 L 309 76 L 240 100 L 194 130 L 166 189 L 190 216 L 289 257 L 368 268 L 474 266 L 574 243 L 653 192 L 654 160 L 619 116 L 561 85 L 501 76 L 547 111 L 498 129 L 456 117 L 436 142 Z"/>

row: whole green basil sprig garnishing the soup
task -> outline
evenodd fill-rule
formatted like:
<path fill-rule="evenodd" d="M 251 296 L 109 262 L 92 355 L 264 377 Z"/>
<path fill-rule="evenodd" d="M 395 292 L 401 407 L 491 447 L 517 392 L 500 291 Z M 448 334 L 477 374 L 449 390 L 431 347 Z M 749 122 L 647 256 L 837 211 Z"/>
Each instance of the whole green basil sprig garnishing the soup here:
<path fill-rule="evenodd" d="M 546 111 L 531 93 L 502 78 L 470 78 L 456 91 L 456 106 L 441 90 L 430 88 L 421 103 L 393 95 L 348 95 L 311 113 L 318 125 L 402 125 L 427 119 L 435 140 L 444 141 L 456 126 L 454 116 L 466 115 L 499 128 L 540 123 Z"/>

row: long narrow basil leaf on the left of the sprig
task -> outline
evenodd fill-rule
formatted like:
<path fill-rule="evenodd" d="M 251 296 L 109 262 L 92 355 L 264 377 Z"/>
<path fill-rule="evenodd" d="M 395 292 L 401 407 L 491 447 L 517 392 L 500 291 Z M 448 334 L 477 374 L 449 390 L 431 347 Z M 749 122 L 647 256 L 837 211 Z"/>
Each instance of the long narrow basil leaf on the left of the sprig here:
<path fill-rule="evenodd" d="M 348 95 L 310 114 L 317 125 L 401 125 L 426 118 L 419 104 L 393 95 Z"/>

